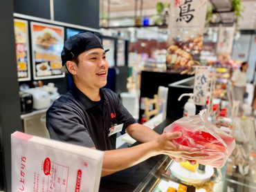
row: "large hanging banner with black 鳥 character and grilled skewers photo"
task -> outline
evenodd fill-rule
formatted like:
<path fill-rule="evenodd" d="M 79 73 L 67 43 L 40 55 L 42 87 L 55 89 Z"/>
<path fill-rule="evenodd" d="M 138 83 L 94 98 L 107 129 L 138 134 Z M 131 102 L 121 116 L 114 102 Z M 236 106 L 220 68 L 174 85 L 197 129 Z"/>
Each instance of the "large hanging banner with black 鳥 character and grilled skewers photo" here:
<path fill-rule="evenodd" d="M 203 46 L 207 0 L 171 1 L 167 39 L 167 72 L 194 74 L 194 57 Z"/>

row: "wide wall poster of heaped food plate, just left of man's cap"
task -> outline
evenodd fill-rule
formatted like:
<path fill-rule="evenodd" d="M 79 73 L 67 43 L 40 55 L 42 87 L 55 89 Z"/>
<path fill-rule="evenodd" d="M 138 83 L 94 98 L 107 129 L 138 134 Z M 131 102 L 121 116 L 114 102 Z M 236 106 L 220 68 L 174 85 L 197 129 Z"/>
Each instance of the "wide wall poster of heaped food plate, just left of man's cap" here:
<path fill-rule="evenodd" d="M 65 77 L 60 54 L 64 44 L 64 28 L 31 22 L 33 77 L 53 79 Z"/>

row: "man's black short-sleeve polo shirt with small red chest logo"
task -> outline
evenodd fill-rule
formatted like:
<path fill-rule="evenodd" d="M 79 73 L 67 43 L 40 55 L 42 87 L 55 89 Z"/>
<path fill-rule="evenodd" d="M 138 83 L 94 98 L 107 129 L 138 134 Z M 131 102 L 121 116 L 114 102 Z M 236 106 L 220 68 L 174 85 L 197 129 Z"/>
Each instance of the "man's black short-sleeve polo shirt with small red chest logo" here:
<path fill-rule="evenodd" d="M 46 112 L 51 139 L 106 151 L 116 148 L 116 134 L 108 136 L 114 124 L 124 124 L 121 133 L 136 121 L 120 99 L 107 88 L 100 88 L 103 108 L 77 87 L 53 102 Z"/>

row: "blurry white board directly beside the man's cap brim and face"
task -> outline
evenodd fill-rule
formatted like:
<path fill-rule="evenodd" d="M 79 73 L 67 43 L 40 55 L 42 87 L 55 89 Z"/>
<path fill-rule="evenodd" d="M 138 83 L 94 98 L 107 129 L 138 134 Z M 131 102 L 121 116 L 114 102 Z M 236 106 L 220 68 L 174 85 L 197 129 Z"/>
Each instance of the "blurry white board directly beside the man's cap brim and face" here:
<path fill-rule="evenodd" d="M 115 41 L 113 39 L 102 39 L 102 43 L 104 46 L 104 50 L 109 49 L 109 51 L 106 54 L 107 61 L 109 62 L 109 67 L 114 67 L 115 66 Z"/>

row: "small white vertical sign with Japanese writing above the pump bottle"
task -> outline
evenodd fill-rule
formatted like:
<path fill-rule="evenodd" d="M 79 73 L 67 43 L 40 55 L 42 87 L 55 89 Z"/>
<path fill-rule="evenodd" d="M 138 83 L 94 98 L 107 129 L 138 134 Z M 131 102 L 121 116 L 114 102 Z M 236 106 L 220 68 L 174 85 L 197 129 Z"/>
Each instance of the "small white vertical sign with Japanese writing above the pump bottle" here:
<path fill-rule="evenodd" d="M 208 93 L 208 68 L 196 68 L 194 77 L 194 104 L 204 106 Z"/>

